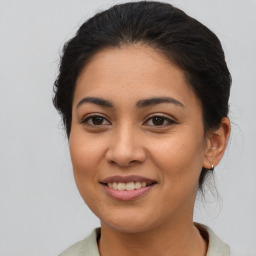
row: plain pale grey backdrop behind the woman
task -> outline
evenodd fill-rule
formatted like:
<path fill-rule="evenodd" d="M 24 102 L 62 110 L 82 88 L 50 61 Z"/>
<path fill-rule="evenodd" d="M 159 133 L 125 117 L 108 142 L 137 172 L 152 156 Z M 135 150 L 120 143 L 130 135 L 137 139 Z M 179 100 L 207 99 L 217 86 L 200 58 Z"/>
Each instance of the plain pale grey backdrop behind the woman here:
<path fill-rule="evenodd" d="M 76 189 L 52 86 L 64 42 L 120 2 L 0 1 L 0 256 L 55 256 L 99 225 Z M 195 220 L 256 255 L 256 1 L 166 2 L 217 34 L 233 76 L 218 195 L 198 198 Z"/>

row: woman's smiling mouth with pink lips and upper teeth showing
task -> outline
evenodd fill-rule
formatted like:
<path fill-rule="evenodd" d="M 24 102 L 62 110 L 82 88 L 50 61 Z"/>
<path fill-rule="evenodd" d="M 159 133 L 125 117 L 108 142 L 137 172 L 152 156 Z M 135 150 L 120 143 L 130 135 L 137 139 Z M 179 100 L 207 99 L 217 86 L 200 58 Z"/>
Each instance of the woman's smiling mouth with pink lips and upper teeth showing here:
<path fill-rule="evenodd" d="M 106 193 L 118 200 L 134 200 L 146 194 L 157 184 L 141 176 L 112 176 L 100 181 Z"/>

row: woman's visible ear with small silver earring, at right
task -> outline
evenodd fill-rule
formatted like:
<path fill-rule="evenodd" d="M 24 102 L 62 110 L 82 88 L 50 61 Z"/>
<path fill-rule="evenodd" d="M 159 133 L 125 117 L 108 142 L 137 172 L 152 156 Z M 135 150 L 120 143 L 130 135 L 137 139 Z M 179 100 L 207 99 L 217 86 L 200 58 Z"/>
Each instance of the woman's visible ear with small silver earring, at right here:
<path fill-rule="evenodd" d="M 227 117 L 223 117 L 220 126 L 215 130 L 209 131 L 207 134 L 203 162 L 204 168 L 210 169 L 212 165 L 216 166 L 220 162 L 227 147 L 229 135 L 230 121 Z"/>

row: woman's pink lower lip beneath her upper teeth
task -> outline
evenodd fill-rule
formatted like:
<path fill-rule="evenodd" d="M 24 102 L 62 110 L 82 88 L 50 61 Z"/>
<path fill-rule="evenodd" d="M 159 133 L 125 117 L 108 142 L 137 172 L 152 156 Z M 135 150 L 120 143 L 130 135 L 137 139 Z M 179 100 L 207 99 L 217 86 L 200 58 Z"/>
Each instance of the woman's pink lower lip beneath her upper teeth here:
<path fill-rule="evenodd" d="M 106 185 L 102 185 L 102 186 L 105 189 L 107 195 L 109 195 L 110 197 L 117 199 L 117 200 L 128 201 L 128 200 L 135 200 L 135 199 L 145 195 L 146 193 L 149 192 L 149 190 L 154 185 L 142 187 L 142 188 L 135 189 L 135 190 L 116 190 L 116 189 L 110 188 Z"/>

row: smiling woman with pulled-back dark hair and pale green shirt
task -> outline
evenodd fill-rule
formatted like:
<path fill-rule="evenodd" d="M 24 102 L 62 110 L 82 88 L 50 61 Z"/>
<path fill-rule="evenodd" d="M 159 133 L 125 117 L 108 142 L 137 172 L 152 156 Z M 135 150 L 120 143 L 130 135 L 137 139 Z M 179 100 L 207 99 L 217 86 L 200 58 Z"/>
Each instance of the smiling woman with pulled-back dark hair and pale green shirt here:
<path fill-rule="evenodd" d="M 101 228 L 61 255 L 230 255 L 193 223 L 230 134 L 230 85 L 215 34 L 169 4 L 116 5 L 80 27 L 54 105 Z"/>

